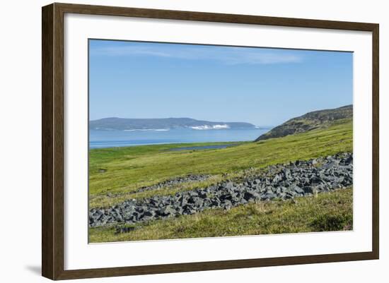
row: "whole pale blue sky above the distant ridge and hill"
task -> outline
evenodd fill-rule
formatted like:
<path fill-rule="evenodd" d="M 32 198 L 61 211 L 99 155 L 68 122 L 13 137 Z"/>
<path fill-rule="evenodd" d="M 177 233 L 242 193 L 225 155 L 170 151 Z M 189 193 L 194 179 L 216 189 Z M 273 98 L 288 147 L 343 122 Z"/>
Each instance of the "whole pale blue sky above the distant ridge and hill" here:
<path fill-rule="evenodd" d="M 258 126 L 352 104 L 352 53 L 89 41 L 90 119 L 190 117 Z"/>

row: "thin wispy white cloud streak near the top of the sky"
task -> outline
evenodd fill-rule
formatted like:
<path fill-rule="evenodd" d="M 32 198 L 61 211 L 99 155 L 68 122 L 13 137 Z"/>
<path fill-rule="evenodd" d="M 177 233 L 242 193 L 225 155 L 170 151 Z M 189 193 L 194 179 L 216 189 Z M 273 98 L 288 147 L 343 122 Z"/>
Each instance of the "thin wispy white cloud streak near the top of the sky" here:
<path fill-rule="evenodd" d="M 255 49 L 244 47 L 213 48 L 156 44 L 152 46 L 95 47 L 92 55 L 99 56 L 156 56 L 185 60 L 215 60 L 226 65 L 237 64 L 291 64 L 302 61 L 302 57 L 284 50 Z"/>

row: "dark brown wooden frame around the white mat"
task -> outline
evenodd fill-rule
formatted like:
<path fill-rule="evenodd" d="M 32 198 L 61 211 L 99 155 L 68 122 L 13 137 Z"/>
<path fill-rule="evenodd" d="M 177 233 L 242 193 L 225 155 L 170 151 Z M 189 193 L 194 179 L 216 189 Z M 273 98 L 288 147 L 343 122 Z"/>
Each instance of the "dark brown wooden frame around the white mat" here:
<path fill-rule="evenodd" d="M 64 13 L 372 32 L 373 229 L 371 233 L 373 250 L 363 253 L 64 270 Z M 330 20 L 274 18 L 79 4 L 54 3 L 42 7 L 42 276 L 50 279 L 75 279 L 378 259 L 378 29 L 379 25 L 376 23 L 351 23 Z"/>

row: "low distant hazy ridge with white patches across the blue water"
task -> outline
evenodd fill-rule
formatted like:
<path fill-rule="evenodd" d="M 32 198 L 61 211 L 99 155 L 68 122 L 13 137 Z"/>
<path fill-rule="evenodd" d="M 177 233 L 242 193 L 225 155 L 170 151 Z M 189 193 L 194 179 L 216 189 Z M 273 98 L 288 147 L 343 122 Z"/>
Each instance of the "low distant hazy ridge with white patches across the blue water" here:
<path fill-rule="evenodd" d="M 258 128 L 253 124 L 245 122 L 214 122 L 196 120 L 191 118 L 127 119 L 116 117 L 89 121 L 89 126 L 93 130 L 120 131 L 167 131 L 173 128 L 192 128 L 194 130 Z"/>

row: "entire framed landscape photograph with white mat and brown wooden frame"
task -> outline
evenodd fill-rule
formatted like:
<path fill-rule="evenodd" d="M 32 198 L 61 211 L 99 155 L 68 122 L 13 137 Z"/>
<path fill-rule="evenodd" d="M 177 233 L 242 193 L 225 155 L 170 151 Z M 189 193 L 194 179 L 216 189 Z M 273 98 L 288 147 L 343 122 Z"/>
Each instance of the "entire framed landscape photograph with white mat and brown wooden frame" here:
<path fill-rule="evenodd" d="M 378 259 L 378 24 L 42 8 L 42 275 Z"/>

